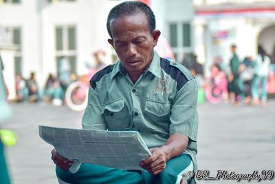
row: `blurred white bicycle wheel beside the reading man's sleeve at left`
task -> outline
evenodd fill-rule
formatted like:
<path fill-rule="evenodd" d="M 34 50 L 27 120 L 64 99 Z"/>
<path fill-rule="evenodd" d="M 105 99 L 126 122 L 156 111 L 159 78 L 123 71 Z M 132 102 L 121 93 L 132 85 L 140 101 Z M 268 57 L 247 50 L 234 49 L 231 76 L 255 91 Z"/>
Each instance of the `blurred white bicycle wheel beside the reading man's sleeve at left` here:
<path fill-rule="evenodd" d="M 71 83 L 65 92 L 65 101 L 71 110 L 85 110 L 88 103 L 87 86 L 80 81 Z"/>

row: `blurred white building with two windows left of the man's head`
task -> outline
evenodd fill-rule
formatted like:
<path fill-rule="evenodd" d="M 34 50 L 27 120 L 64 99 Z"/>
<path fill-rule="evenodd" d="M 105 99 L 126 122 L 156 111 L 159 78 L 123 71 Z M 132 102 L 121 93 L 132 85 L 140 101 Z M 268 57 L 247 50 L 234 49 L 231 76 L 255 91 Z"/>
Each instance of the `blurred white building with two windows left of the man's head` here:
<path fill-rule="evenodd" d="M 43 87 L 48 74 L 58 73 L 61 57 L 68 57 L 72 72 L 85 74 L 91 52 L 110 52 L 107 14 L 118 2 L 0 0 L 0 25 L 18 46 L 12 60 L 3 59 L 10 98 L 15 95 L 15 74 L 28 79 L 30 72 L 36 72 Z"/>

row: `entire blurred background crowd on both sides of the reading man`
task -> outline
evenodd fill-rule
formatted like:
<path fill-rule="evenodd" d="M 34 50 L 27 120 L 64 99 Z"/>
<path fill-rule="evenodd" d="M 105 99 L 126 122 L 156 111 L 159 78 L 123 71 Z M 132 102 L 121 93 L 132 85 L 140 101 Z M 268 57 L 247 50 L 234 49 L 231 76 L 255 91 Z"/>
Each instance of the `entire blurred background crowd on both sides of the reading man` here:
<path fill-rule="evenodd" d="M 197 61 L 195 54 L 189 53 L 184 56 L 182 64 L 196 76 L 199 86 L 199 102 L 204 102 L 207 99 L 212 103 L 230 101 L 239 105 L 243 101 L 247 105 L 261 104 L 264 106 L 267 101 L 269 74 L 274 75 L 273 78 L 270 77 L 270 80 L 274 79 L 275 92 L 275 74 L 274 72 L 270 73 L 272 71 L 270 70 L 270 57 L 261 45 L 258 47 L 258 54 L 255 58 L 248 56 L 242 61 L 238 57 L 236 45 L 231 45 L 230 50 L 232 57 L 228 65 L 225 65 L 221 58 L 215 58 L 208 77 L 204 74 L 203 65 Z M 22 76 L 17 75 L 17 101 L 46 101 L 54 105 L 62 105 L 65 91 L 70 83 L 76 80 L 88 83 L 98 70 L 106 66 L 102 61 L 104 54 L 102 50 L 92 53 L 94 62 L 86 63 L 86 67 L 89 69 L 88 74 L 79 77 L 72 74 L 69 61 L 66 58 L 61 59 L 58 75 L 49 74 L 42 90 L 36 82 L 34 72 L 30 74 L 29 79 L 23 79 Z"/>

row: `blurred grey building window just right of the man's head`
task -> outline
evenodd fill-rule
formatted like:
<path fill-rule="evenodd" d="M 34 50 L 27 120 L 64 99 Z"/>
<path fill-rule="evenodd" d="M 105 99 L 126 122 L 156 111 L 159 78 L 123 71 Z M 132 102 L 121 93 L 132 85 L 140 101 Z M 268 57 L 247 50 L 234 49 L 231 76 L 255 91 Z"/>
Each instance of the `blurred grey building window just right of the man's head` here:
<path fill-rule="evenodd" d="M 181 62 L 184 54 L 192 51 L 192 35 L 190 23 L 170 23 L 170 45 L 176 61 Z"/>

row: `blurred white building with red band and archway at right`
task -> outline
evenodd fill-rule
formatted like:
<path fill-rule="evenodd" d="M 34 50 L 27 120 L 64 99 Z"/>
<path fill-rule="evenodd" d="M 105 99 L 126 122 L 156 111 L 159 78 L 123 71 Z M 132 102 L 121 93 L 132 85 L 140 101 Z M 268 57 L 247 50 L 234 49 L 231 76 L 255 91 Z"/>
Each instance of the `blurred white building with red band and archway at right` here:
<path fill-rule="evenodd" d="M 230 45 L 240 59 L 255 57 L 257 46 L 275 55 L 274 0 L 195 0 L 195 51 L 209 71 L 215 58 L 228 63 Z"/>

